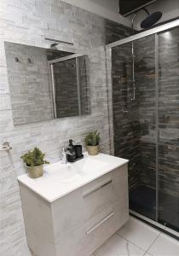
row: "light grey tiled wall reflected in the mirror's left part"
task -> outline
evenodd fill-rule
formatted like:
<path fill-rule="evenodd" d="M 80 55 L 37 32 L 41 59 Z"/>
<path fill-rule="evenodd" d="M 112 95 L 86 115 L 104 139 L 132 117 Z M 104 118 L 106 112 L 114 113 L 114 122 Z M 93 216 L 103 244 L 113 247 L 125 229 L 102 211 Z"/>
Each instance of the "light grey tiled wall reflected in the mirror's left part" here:
<path fill-rule="evenodd" d="M 6 42 L 5 51 L 14 125 L 53 119 L 46 49 Z"/>

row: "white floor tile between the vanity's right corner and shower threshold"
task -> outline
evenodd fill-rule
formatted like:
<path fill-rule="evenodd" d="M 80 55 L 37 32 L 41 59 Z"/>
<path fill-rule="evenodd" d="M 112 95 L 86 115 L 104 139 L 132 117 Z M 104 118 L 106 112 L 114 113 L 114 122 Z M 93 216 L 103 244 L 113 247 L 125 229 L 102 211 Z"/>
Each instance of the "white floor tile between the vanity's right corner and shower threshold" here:
<path fill-rule="evenodd" d="M 129 222 L 118 230 L 118 235 L 136 244 L 137 247 L 141 247 L 144 251 L 147 251 L 147 248 L 159 236 L 159 231 L 136 218 L 130 217 Z"/>

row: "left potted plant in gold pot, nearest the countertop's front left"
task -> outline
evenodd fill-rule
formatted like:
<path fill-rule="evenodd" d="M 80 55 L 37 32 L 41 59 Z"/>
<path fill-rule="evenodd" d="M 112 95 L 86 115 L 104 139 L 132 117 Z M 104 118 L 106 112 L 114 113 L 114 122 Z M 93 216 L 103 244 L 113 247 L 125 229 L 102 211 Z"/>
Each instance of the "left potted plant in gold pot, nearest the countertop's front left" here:
<path fill-rule="evenodd" d="M 45 154 L 37 147 L 21 156 L 26 164 L 30 177 L 36 178 L 43 176 L 43 164 L 49 164 L 48 161 L 44 160 L 44 157 Z"/>

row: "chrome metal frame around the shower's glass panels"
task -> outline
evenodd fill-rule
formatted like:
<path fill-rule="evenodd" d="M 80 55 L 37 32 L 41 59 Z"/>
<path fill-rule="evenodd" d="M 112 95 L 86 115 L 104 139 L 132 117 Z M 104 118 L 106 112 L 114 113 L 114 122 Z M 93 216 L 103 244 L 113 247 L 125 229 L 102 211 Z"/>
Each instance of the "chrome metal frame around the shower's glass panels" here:
<path fill-rule="evenodd" d="M 118 40 L 117 42 L 114 42 L 112 44 L 107 44 L 107 46 L 106 46 L 106 55 L 108 58 L 107 61 L 111 60 L 111 62 L 112 62 L 112 49 L 114 47 L 117 47 L 118 45 L 122 45 L 122 44 L 127 44 L 130 42 L 134 42 L 137 39 L 146 38 L 147 36 L 150 36 L 150 35 L 155 35 L 156 96 L 159 98 L 159 70 L 158 70 L 159 69 L 159 52 L 158 52 L 158 47 L 156 47 L 159 44 L 158 34 L 159 34 L 159 32 L 168 31 L 172 28 L 175 28 L 176 26 L 179 26 L 179 17 L 177 20 L 170 21 L 169 23 L 166 23 L 165 25 L 154 27 L 145 32 L 140 32 L 136 35 L 130 36 L 129 38 L 124 38 L 124 39 Z M 111 101 L 108 101 L 108 104 L 109 104 L 108 113 L 109 113 L 109 121 L 110 121 L 110 131 L 109 131 L 110 141 L 111 141 L 111 143 L 113 143 L 114 131 L 113 131 L 113 127 L 111 127 L 111 125 L 114 125 L 113 124 L 113 73 L 112 73 L 112 65 L 110 65 L 110 64 L 107 64 L 107 90 L 108 90 L 109 100 L 111 100 Z M 156 102 L 157 102 L 156 103 L 156 121 L 157 121 L 156 124 L 158 124 L 159 123 L 159 102 L 158 101 L 156 101 Z M 156 189 L 159 190 L 159 170 L 158 170 L 159 169 L 158 168 L 159 129 L 156 132 L 158 132 L 158 136 L 156 137 L 156 145 L 157 145 L 156 146 L 156 166 L 157 166 L 157 168 L 156 168 Z M 113 145 L 113 147 L 114 147 L 114 145 Z M 112 147 L 111 147 L 111 151 L 112 151 L 111 154 L 113 154 Z M 156 193 L 156 208 L 159 209 L 159 191 Z M 179 232 L 177 232 L 175 230 L 171 230 L 170 228 L 167 228 L 163 224 L 159 224 L 159 222 L 158 222 L 159 211 L 156 211 L 156 221 L 153 221 L 152 219 L 147 218 L 144 215 L 141 215 L 132 210 L 130 210 L 130 212 L 133 215 L 136 215 L 136 217 L 146 220 L 148 223 L 151 223 L 151 224 L 159 227 L 161 230 L 165 230 L 166 232 L 172 234 L 173 236 L 179 237 Z"/>

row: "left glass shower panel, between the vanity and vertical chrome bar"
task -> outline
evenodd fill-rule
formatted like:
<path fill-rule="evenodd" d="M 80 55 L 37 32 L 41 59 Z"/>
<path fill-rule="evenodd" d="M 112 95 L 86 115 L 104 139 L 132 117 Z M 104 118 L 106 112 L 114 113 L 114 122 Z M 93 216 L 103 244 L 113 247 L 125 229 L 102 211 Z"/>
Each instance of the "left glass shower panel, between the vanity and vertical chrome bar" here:
<path fill-rule="evenodd" d="M 114 151 L 116 156 L 130 160 L 130 210 L 155 220 L 155 36 L 133 44 L 134 57 L 131 42 L 112 49 Z"/>

